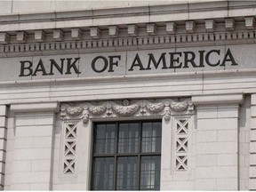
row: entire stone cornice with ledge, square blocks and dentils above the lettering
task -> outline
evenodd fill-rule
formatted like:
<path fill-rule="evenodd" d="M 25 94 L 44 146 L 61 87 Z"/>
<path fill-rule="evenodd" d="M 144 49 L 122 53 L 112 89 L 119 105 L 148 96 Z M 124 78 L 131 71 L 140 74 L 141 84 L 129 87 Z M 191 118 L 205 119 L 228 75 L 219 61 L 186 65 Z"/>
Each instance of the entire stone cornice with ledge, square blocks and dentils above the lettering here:
<path fill-rule="evenodd" d="M 0 56 L 254 44 L 255 8 L 216 1 L 3 15 Z"/>

